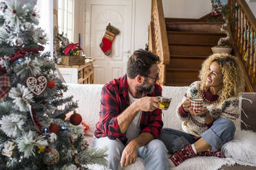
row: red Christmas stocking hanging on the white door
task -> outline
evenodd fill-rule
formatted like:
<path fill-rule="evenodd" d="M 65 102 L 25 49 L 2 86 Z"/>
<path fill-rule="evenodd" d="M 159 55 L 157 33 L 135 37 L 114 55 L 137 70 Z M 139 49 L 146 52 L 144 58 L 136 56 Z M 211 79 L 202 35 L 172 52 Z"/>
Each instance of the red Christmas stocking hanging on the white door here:
<path fill-rule="evenodd" d="M 100 43 L 100 49 L 103 50 L 103 53 L 105 55 L 109 56 L 111 53 L 111 47 L 112 47 L 112 42 L 115 39 L 115 36 L 119 34 L 119 30 L 116 27 L 111 26 L 110 24 L 107 25 L 105 35 L 103 36 L 103 40 Z"/>

